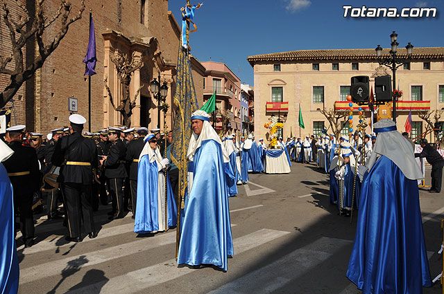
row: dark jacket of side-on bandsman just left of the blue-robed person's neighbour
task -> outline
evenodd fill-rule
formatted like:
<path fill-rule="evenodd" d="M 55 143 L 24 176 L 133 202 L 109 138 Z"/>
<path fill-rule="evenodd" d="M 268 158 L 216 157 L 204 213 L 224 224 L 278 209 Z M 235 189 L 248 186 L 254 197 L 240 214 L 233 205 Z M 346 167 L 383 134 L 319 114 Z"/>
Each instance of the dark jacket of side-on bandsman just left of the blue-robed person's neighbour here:
<path fill-rule="evenodd" d="M 121 139 L 111 143 L 108 157 L 103 162 L 107 178 L 126 178 L 125 156 L 126 144 Z"/>

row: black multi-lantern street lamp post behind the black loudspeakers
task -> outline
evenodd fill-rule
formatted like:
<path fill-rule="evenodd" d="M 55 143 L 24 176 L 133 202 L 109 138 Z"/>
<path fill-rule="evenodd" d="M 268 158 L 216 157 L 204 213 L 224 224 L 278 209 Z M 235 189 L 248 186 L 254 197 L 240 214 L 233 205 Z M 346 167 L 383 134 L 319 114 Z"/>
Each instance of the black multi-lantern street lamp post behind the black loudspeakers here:
<path fill-rule="evenodd" d="M 393 33 L 391 33 L 390 35 L 390 41 L 391 41 L 391 50 L 390 50 L 390 55 L 391 57 L 388 57 L 386 59 L 380 60 L 379 61 L 379 65 L 384 65 L 387 66 L 388 68 L 391 69 L 392 73 L 393 73 L 393 89 L 392 91 L 395 91 L 396 89 L 396 70 L 402 66 L 403 64 L 406 64 L 409 62 L 409 60 L 411 59 L 411 54 L 413 53 L 413 45 L 407 44 L 407 46 L 405 46 L 405 48 L 407 49 L 407 60 L 403 59 L 403 58 L 399 58 L 396 56 L 396 52 L 398 51 L 398 45 L 399 43 L 398 41 L 398 34 L 395 33 L 395 31 L 393 30 Z M 377 57 L 382 57 L 382 48 L 380 45 L 378 45 L 376 48 L 376 56 Z M 396 98 L 392 95 L 393 98 L 393 122 L 396 122 Z"/>

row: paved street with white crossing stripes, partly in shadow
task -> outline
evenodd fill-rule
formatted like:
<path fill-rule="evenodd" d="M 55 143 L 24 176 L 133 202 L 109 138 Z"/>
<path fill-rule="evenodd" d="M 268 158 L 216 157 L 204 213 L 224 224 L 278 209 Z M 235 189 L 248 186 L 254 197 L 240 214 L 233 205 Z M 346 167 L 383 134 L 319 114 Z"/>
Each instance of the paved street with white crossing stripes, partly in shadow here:
<path fill-rule="evenodd" d="M 38 221 L 37 244 L 19 247 L 19 293 L 359 293 L 345 277 L 356 218 L 350 224 L 329 205 L 327 175 L 293 163 L 291 174 L 250 174 L 238 189 L 230 198 L 234 256 L 227 273 L 178 268 L 176 230 L 136 237 L 130 214 L 110 222 L 109 208 L 101 207 L 99 237 L 79 244 L 67 244 L 61 221 Z M 434 278 L 441 273 L 444 199 L 420 196 Z M 424 293 L 441 293 L 439 282 Z"/>

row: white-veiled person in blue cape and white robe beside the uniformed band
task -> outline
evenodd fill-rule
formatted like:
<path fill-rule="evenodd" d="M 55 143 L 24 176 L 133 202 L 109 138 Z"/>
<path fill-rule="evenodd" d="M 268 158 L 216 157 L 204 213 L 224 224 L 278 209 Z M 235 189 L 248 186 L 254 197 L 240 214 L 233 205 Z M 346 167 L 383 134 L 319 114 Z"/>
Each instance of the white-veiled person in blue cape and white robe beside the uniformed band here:
<path fill-rule="evenodd" d="M 160 156 L 154 134 L 146 136 L 145 142 L 137 169 L 137 210 L 134 232 L 138 234 L 166 231 L 171 226 L 177 226 L 177 205 L 169 176 L 165 172 L 169 160 L 162 159 Z M 165 183 L 167 184 L 167 211 L 165 211 Z M 165 218 L 167 218 L 167 223 L 165 223 Z"/>

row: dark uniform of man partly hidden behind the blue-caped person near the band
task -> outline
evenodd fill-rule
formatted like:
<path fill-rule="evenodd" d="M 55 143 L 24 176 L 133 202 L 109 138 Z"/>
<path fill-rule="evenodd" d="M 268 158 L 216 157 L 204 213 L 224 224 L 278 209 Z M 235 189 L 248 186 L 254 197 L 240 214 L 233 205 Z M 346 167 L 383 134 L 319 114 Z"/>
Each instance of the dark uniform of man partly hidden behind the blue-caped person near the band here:
<path fill-rule="evenodd" d="M 131 201 L 133 203 L 133 216 L 136 214 L 137 203 L 137 167 L 139 165 L 139 156 L 144 149 L 145 142 L 144 136 L 132 140 L 128 144 L 126 150 L 126 161 L 130 163 L 130 172 L 128 178 L 130 179 L 130 194 Z"/>

